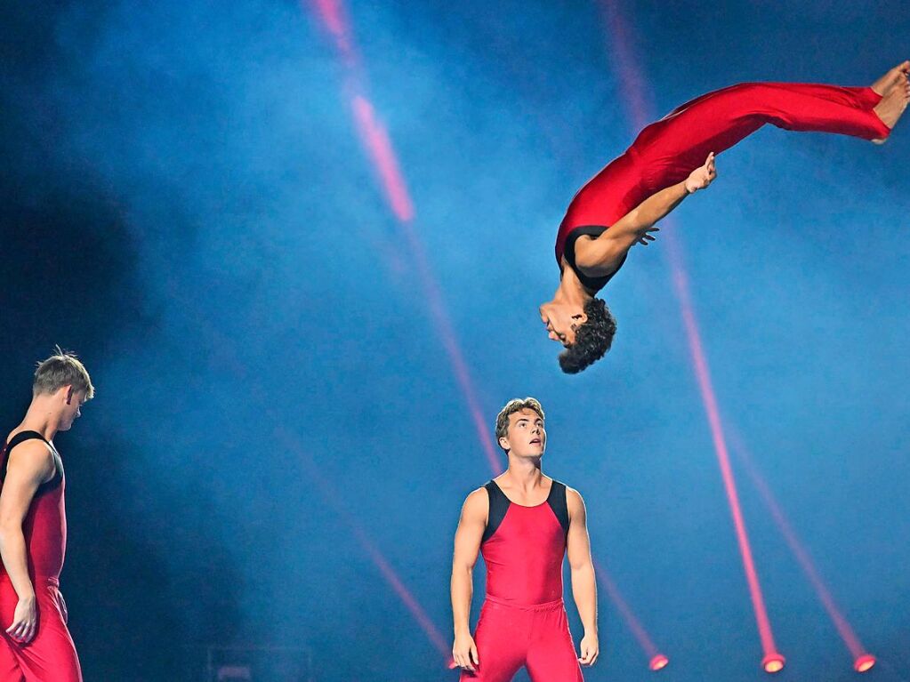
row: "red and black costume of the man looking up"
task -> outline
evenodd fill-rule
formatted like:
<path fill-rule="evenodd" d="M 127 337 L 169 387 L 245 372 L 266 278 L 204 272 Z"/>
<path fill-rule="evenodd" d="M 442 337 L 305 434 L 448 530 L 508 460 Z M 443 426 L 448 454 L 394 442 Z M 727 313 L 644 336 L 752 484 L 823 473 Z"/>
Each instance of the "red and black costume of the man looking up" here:
<path fill-rule="evenodd" d="M 533 682 L 579 682 L 581 667 L 562 604 L 562 559 L 569 513 L 566 486 L 553 481 L 547 501 L 511 503 L 486 486 L 490 516 L 480 544 L 487 598 L 474 633 L 480 665 L 461 682 L 508 682 L 524 666 Z"/>

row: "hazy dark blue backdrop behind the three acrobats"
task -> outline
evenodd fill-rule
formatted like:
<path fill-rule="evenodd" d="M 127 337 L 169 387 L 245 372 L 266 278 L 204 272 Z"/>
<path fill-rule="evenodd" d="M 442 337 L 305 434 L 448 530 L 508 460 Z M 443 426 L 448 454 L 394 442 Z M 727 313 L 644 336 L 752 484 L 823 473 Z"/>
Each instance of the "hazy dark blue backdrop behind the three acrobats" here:
<path fill-rule="evenodd" d="M 661 113 L 868 84 L 910 49 L 895 2 L 619 6 Z M 535 312 L 569 198 L 632 136 L 601 8 L 348 10 L 485 418 L 541 399 L 545 470 L 585 496 L 662 677 L 762 679 L 665 246 L 614 280 L 620 331 L 582 376 Z M 454 679 L 350 519 L 448 639 L 451 536 L 490 466 L 316 5 L 8 3 L 0 25 L 0 416 L 51 346 L 82 354 L 98 396 L 58 445 L 86 679 L 187 679 L 227 642 L 307 646 L 320 681 Z M 763 130 L 677 211 L 723 414 L 882 680 L 910 675 L 906 125 L 881 148 Z M 737 472 L 782 678 L 852 678 Z M 601 621 L 586 677 L 652 679 L 605 595 Z"/>

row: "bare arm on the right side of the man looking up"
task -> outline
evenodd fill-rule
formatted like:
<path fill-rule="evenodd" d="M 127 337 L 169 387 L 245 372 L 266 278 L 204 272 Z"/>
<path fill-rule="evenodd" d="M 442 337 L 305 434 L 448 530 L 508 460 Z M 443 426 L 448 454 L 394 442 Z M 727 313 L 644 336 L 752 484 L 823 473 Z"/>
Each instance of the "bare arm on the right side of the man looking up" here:
<path fill-rule="evenodd" d="M 600 645 L 597 635 L 597 583 L 591 560 L 591 541 L 588 537 L 584 501 L 577 490 L 566 490 L 566 504 L 569 507 L 569 537 L 566 545 L 571 568 L 571 593 L 584 627 L 579 662 L 593 666 Z"/>

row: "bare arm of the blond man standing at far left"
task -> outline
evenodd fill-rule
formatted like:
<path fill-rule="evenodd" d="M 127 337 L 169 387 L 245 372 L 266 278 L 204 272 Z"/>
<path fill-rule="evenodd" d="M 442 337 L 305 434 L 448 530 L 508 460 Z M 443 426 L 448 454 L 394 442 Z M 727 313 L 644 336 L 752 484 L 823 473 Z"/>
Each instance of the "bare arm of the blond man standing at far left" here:
<path fill-rule="evenodd" d="M 47 446 L 37 440 L 26 441 L 10 453 L 3 491 L 0 492 L 0 557 L 19 597 L 13 624 L 6 631 L 23 642 L 35 636 L 37 614 L 35 587 L 28 577 L 22 523 L 38 486 L 50 480 L 54 471 L 54 457 Z"/>

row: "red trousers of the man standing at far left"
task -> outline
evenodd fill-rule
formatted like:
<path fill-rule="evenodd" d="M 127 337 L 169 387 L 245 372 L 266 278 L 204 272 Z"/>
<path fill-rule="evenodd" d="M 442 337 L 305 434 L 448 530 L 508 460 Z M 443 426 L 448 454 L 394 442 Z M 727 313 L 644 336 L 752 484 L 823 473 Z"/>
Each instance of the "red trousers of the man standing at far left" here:
<path fill-rule="evenodd" d="M 0 577 L 0 680 L 82 682 L 76 647 L 66 629 L 66 603 L 56 577 L 35 578 L 38 630 L 35 638 L 25 645 L 6 634 L 18 601 L 9 578 Z"/>

